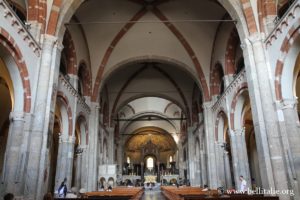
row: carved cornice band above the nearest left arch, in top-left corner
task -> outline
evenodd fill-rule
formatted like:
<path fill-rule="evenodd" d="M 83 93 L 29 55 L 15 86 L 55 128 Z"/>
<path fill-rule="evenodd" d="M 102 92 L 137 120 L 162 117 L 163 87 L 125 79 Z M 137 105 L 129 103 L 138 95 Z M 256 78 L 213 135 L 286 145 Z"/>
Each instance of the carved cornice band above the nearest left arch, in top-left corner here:
<path fill-rule="evenodd" d="M 3 13 L 3 19 L 11 20 L 11 26 L 16 29 L 17 33 L 27 43 L 28 47 L 32 49 L 34 54 L 40 57 L 41 47 L 5 0 L 0 0 L 0 13 Z"/>

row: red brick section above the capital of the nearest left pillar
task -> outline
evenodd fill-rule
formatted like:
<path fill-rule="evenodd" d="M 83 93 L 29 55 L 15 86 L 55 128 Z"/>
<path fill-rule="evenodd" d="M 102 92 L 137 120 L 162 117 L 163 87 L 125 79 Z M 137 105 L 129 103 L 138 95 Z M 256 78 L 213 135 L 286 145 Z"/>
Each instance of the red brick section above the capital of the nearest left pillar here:
<path fill-rule="evenodd" d="M 28 21 L 36 21 L 42 25 L 41 33 L 45 32 L 47 1 L 46 0 L 29 0 L 28 2 Z M 26 15 L 25 15 L 26 16 Z"/>

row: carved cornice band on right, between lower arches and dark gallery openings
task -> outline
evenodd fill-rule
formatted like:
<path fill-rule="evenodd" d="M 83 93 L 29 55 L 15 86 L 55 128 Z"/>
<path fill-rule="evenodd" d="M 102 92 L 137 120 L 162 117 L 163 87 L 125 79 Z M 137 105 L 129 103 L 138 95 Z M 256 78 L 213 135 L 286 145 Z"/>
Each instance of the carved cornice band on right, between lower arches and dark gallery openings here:
<path fill-rule="evenodd" d="M 233 94 L 234 91 L 243 83 L 246 82 L 246 70 L 243 69 L 238 73 L 235 79 L 228 85 L 225 89 L 224 93 L 220 96 L 220 98 L 216 101 L 216 103 L 212 106 L 212 110 L 216 111 L 219 107 L 226 101 L 226 97 L 230 94 Z"/>

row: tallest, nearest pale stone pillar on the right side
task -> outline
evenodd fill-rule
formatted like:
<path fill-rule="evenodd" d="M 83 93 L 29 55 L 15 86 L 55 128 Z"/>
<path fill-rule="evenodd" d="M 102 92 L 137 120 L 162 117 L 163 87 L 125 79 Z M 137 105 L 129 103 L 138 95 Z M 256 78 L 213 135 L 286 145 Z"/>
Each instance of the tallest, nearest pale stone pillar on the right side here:
<path fill-rule="evenodd" d="M 252 34 L 242 45 L 246 64 L 249 96 L 259 152 L 259 168 L 263 187 L 286 190 L 289 187 L 287 160 L 279 132 L 278 113 L 274 106 L 274 83 L 272 70 L 266 61 L 263 39 L 259 33 Z M 282 200 L 288 195 L 280 195 Z"/>

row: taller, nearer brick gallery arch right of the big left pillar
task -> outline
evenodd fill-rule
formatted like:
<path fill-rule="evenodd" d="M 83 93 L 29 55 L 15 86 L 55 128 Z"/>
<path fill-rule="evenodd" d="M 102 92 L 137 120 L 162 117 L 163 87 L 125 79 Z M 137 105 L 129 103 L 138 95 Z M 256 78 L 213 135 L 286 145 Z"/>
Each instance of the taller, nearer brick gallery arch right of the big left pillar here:
<path fill-rule="evenodd" d="M 66 30 L 63 39 L 64 51 L 67 57 L 67 73 L 77 75 L 77 57 L 75 45 L 72 36 L 68 30 Z"/>

